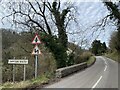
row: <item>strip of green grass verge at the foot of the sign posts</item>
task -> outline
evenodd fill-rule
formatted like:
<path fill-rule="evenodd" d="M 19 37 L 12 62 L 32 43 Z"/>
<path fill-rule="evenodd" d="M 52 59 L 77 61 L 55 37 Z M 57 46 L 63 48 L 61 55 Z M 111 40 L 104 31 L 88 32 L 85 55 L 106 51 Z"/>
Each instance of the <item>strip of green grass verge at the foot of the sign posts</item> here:
<path fill-rule="evenodd" d="M 29 88 L 34 86 L 39 86 L 44 83 L 48 83 L 49 78 L 46 75 L 42 75 L 37 77 L 36 79 L 21 81 L 21 82 L 6 82 L 3 85 L 0 85 L 0 88 L 3 88 L 2 90 L 5 90 L 5 88 Z"/>

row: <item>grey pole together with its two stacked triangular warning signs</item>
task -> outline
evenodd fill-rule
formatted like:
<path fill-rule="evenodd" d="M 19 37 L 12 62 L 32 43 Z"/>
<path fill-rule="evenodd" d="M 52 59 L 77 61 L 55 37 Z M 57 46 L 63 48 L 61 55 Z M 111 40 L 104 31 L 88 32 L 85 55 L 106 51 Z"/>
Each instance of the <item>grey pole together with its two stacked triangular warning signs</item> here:
<path fill-rule="evenodd" d="M 38 44 L 40 44 L 40 38 L 38 34 L 33 38 L 32 44 L 35 44 L 35 47 L 32 51 L 32 55 L 35 55 L 35 78 L 37 78 L 37 69 L 38 69 L 38 55 L 41 54 L 40 49 L 38 48 Z"/>

